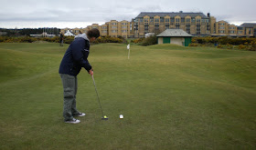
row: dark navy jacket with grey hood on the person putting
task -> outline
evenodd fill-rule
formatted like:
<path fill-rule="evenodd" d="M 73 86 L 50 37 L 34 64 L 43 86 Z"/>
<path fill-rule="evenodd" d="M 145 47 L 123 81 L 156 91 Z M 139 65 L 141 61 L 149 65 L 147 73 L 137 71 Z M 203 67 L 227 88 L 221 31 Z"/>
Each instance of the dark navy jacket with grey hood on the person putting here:
<path fill-rule="evenodd" d="M 89 72 L 91 70 L 91 65 L 87 60 L 89 53 L 89 39 L 86 35 L 77 35 L 62 58 L 59 74 L 77 76 L 81 67 Z"/>

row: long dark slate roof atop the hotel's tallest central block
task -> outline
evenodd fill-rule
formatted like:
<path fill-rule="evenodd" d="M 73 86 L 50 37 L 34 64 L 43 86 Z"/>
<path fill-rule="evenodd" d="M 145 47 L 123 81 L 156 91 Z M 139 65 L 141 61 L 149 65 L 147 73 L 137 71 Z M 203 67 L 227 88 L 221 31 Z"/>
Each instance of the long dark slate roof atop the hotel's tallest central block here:
<path fill-rule="evenodd" d="M 154 17 L 155 15 L 159 15 L 160 17 L 165 17 L 165 15 L 169 15 L 171 17 L 175 17 L 176 15 L 179 15 L 181 17 L 185 17 L 187 15 L 191 17 L 196 17 L 197 15 L 201 16 L 202 18 L 208 18 L 207 15 L 204 15 L 203 13 L 183 13 L 182 11 L 180 12 L 141 12 L 136 17 L 144 17 L 144 15 L 148 15 L 150 17 Z"/>

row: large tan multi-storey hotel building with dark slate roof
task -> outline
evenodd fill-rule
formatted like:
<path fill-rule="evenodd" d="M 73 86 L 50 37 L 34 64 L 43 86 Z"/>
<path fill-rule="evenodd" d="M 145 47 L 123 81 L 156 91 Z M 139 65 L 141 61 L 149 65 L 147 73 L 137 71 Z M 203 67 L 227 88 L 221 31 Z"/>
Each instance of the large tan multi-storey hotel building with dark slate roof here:
<path fill-rule="evenodd" d="M 244 23 L 240 26 L 230 25 L 226 21 L 216 21 L 214 16 L 203 13 L 180 12 L 142 12 L 129 21 L 112 20 L 104 25 L 93 24 L 86 28 L 65 28 L 63 33 L 70 30 L 74 35 L 85 33 L 91 28 L 98 28 L 101 36 L 144 37 L 148 33 L 160 34 L 165 29 L 183 29 L 190 35 L 197 36 L 256 36 L 256 23 Z"/>

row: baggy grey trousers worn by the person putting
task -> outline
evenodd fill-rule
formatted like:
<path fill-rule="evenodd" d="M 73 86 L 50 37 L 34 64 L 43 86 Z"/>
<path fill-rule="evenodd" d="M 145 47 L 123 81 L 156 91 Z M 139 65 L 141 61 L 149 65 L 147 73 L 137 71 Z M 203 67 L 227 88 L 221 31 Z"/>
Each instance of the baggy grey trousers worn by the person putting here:
<path fill-rule="evenodd" d="M 65 121 L 73 119 L 73 115 L 79 115 L 80 112 L 76 106 L 76 95 L 78 91 L 77 76 L 59 74 L 63 85 L 63 116 Z"/>

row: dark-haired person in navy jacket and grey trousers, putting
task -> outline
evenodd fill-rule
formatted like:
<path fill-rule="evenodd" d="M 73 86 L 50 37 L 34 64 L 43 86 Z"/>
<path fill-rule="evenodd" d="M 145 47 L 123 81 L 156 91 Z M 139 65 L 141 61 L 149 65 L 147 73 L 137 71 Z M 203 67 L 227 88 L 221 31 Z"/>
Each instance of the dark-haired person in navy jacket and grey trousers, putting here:
<path fill-rule="evenodd" d="M 86 35 L 75 36 L 59 65 L 59 75 L 64 90 L 63 116 L 65 123 L 78 124 L 80 120 L 75 119 L 74 116 L 85 115 L 80 113 L 76 107 L 77 75 L 80 73 L 81 67 L 84 67 L 90 75 L 93 75 L 92 67 L 87 57 L 90 53 L 90 42 L 95 41 L 99 36 L 100 31 L 96 28 L 89 30 Z"/>

